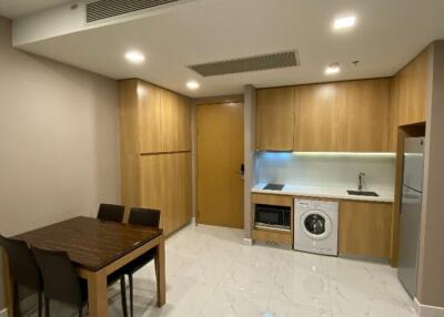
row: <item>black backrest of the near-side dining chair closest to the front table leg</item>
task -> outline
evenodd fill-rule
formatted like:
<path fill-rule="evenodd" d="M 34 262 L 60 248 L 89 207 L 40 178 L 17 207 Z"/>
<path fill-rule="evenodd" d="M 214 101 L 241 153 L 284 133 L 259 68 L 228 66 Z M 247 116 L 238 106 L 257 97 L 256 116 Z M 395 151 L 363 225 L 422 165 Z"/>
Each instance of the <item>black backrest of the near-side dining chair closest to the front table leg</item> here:
<path fill-rule="evenodd" d="M 80 282 L 65 252 L 32 247 L 43 278 L 44 296 L 79 307 L 82 304 Z"/>

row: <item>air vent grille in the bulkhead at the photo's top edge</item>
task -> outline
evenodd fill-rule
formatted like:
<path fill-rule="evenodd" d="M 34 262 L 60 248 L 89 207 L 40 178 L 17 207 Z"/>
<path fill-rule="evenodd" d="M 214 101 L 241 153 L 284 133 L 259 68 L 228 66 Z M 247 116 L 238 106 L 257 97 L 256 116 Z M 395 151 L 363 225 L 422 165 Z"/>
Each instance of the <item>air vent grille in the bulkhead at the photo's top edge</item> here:
<path fill-rule="evenodd" d="M 87 23 L 181 0 L 99 0 L 87 3 Z"/>

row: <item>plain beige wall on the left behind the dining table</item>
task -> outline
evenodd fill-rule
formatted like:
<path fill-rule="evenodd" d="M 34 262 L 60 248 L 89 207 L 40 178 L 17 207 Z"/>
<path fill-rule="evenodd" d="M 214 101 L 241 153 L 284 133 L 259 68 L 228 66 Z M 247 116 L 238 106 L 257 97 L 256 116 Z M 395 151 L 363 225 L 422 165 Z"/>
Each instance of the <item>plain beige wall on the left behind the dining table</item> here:
<path fill-rule="evenodd" d="M 12 49 L 0 17 L 0 234 L 119 202 L 118 139 L 115 81 Z"/>

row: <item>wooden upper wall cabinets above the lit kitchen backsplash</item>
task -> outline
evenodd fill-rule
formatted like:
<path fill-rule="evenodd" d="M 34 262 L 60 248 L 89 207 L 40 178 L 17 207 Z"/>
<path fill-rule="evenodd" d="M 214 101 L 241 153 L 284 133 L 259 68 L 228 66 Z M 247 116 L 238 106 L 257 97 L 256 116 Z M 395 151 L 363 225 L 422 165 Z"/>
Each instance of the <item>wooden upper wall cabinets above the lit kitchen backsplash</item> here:
<path fill-rule="evenodd" d="M 256 149 L 386 152 L 391 114 L 390 79 L 259 90 Z"/>

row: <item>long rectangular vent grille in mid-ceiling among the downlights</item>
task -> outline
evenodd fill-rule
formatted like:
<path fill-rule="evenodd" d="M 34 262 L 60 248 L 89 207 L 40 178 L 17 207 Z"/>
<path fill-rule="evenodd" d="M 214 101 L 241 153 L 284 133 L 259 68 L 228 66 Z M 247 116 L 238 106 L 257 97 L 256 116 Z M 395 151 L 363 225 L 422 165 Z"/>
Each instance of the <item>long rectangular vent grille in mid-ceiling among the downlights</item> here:
<path fill-rule="evenodd" d="M 295 51 L 195 64 L 189 68 L 202 76 L 214 76 L 291 67 L 297 67 Z"/>

